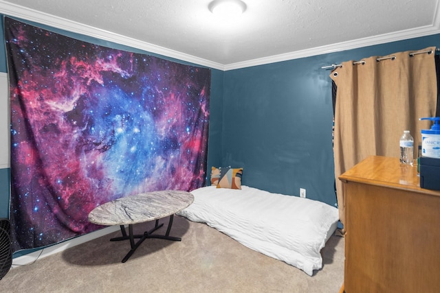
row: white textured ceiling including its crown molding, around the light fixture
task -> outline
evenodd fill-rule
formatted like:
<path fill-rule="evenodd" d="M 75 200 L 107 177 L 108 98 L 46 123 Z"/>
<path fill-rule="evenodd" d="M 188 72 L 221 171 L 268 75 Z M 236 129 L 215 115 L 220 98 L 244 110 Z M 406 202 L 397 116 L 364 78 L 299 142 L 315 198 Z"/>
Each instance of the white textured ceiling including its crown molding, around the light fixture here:
<path fill-rule="evenodd" d="M 228 70 L 440 32 L 439 0 L 0 0 L 0 13 Z"/>

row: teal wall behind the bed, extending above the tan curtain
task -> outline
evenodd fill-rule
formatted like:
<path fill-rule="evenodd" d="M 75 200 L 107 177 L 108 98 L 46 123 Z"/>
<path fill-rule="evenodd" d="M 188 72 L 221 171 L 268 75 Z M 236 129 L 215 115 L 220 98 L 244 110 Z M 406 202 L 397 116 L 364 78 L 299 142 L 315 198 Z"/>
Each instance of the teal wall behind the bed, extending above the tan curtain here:
<path fill-rule="evenodd" d="M 331 71 L 322 66 L 440 46 L 440 34 L 225 71 L 221 164 L 243 185 L 336 204 Z"/>

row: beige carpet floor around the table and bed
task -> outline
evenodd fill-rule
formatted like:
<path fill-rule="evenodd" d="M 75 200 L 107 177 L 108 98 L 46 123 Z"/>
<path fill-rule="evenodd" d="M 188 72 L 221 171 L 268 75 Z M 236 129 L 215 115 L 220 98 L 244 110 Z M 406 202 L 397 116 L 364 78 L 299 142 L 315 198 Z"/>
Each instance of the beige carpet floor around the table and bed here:
<path fill-rule="evenodd" d="M 142 233 L 153 224 L 136 224 L 134 230 Z M 179 216 L 170 235 L 182 237 L 181 242 L 146 239 L 126 263 L 121 260 L 129 242 L 109 241 L 119 235 L 111 233 L 13 268 L 0 280 L 0 292 L 336 293 L 344 279 L 344 238 L 335 235 L 322 249 L 323 268 L 312 277 Z"/>

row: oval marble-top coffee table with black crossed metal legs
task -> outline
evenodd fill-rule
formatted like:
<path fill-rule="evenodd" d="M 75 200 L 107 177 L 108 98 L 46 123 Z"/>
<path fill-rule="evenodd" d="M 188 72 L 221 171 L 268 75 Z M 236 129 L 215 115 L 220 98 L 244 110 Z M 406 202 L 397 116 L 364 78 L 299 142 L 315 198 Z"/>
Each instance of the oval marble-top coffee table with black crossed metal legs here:
<path fill-rule="evenodd" d="M 96 207 L 89 213 L 89 222 L 104 226 L 120 225 L 122 236 L 112 238 L 110 241 L 130 240 L 131 250 L 122 259 L 124 263 L 147 238 L 181 241 L 180 237 L 169 235 L 173 225 L 173 217 L 175 213 L 185 209 L 193 201 L 194 196 L 190 192 L 177 190 L 153 191 L 136 194 L 135 196 L 126 196 Z M 163 223 L 159 224 L 159 219 L 168 216 L 170 216 L 170 220 L 165 235 L 152 234 L 164 225 Z M 142 235 L 133 234 L 133 224 L 152 220 L 156 220 L 156 223 L 150 231 L 146 231 Z M 129 225 L 128 235 L 125 225 Z M 140 239 L 135 242 L 135 238 Z"/>

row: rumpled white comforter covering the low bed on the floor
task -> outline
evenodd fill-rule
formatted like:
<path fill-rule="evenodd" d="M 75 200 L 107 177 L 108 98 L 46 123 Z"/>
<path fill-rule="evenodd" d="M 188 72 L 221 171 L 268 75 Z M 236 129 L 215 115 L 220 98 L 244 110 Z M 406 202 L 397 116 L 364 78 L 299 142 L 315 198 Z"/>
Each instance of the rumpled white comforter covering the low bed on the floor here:
<path fill-rule="evenodd" d="M 336 207 L 253 187 L 191 191 L 194 202 L 177 215 L 205 222 L 241 244 L 285 261 L 310 276 L 322 268 L 320 250 L 336 229 Z"/>

